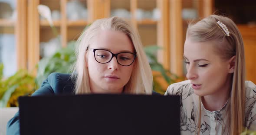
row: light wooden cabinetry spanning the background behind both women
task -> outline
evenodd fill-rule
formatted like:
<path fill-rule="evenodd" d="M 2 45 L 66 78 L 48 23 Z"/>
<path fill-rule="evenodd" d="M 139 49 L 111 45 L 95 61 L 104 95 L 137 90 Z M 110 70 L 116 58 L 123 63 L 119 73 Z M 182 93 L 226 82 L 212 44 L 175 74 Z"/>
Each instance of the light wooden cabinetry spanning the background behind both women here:
<path fill-rule="evenodd" d="M 0 18 L 0 34 L 15 35 L 16 69 L 27 68 L 36 75 L 36 64 L 40 60 L 40 42 L 48 42 L 56 37 L 48 21 L 40 19 L 37 6 L 49 6 L 51 11 L 58 10 L 61 17 L 53 20 L 61 36 L 60 45 L 78 39 L 86 25 L 96 19 L 110 17 L 115 10 L 126 10 L 125 17 L 139 32 L 144 46 L 158 45 L 158 61 L 178 76 L 185 76 L 183 46 L 187 30 L 186 10 L 194 10 L 197 17 L 213 13 L 214 0 L 78 0 L 87 10 L 87 18 L 72 20 L 67 16 L 67 3 L 73 0 L 16 0 L 16 21 Z M 158 9 L 158 19 L 140 18 L 141 10 L 151 12 Z M 2 10 L 2 8 L 0 9 Z M 125 12 L 126 12 L 125 11 Z M 123 12 L 123 11 L 122 11 Z M 245 42 L 247 79 L 256 82 L 255 70 L 255 26 L 248 28 L 239 25 Z M 252 33 L 248 35 L 248 33 Z M 253 35 L 254 34 L 254 35 Z"/>

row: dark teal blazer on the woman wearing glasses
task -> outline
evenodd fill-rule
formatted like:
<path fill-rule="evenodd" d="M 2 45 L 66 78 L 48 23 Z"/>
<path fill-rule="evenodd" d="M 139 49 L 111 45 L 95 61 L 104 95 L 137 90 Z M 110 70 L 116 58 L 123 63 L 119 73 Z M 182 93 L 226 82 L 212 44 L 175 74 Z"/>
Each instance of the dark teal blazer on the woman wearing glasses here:
<path fill-rule="evenodd" d="M 41 87 L 32 96 L 49 94 L 75 94 L 75 81 L 70 74 L 52 73 L 43 81 Z M 153 91 L 152 94 L 159 94 Z M 20 135 L 19 112 L 7 123 L 7 135 Z"/>

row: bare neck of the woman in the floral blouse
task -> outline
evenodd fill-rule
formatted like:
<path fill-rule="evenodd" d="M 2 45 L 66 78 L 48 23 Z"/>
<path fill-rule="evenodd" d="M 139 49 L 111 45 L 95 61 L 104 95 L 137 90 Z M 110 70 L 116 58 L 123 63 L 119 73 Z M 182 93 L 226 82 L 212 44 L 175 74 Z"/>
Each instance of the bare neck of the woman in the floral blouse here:
<path fill-rule="evenodd" d="M 230 97 L 231 84 L 231 79 L 229 79 L 229 81 L 227 81 L 227 83 L 225 83 L 222 89 L 218 90 L 217 93 L 202 96 L 201 101 L 204 108 L 209 111 L 220 110 Z"/>

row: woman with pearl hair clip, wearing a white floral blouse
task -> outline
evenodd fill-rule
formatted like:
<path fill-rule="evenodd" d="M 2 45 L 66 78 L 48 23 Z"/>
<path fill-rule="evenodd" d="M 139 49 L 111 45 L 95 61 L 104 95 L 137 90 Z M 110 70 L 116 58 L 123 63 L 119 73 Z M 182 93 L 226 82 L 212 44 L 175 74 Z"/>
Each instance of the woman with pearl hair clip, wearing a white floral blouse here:
<path fill-rule="evenodd" d="M 243 39 L 235 23 L 217 15 L 190 23 L 184 58 L 189 80 L 165 93 L 181 96 L 181 134 L 255 131 L 256 85 L 245 81 Z"/>

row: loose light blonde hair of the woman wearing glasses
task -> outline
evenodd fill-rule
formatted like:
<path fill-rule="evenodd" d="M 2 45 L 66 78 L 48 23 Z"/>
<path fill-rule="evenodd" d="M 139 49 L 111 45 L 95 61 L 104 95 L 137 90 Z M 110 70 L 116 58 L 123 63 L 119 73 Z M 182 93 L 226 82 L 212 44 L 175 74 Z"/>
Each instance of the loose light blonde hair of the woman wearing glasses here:
<path fill-rule="evenodd" d="M 138 32 L 132 29 L 124 19 L 118 17 L 98 19 L 80 35 L 76 49 L 77 60 L 72 72 L 72 78 L 75 80 L 75 94 L 91 93 L 88 68 L 85 66 L 86 49 L 91 44 L 92 38 L 102 30 L 125 33 L 137 53 L 130 80 L 124 87 L 124 93 L 151 94 L 153 88 L 151 67 L 144 53 Z"/>

